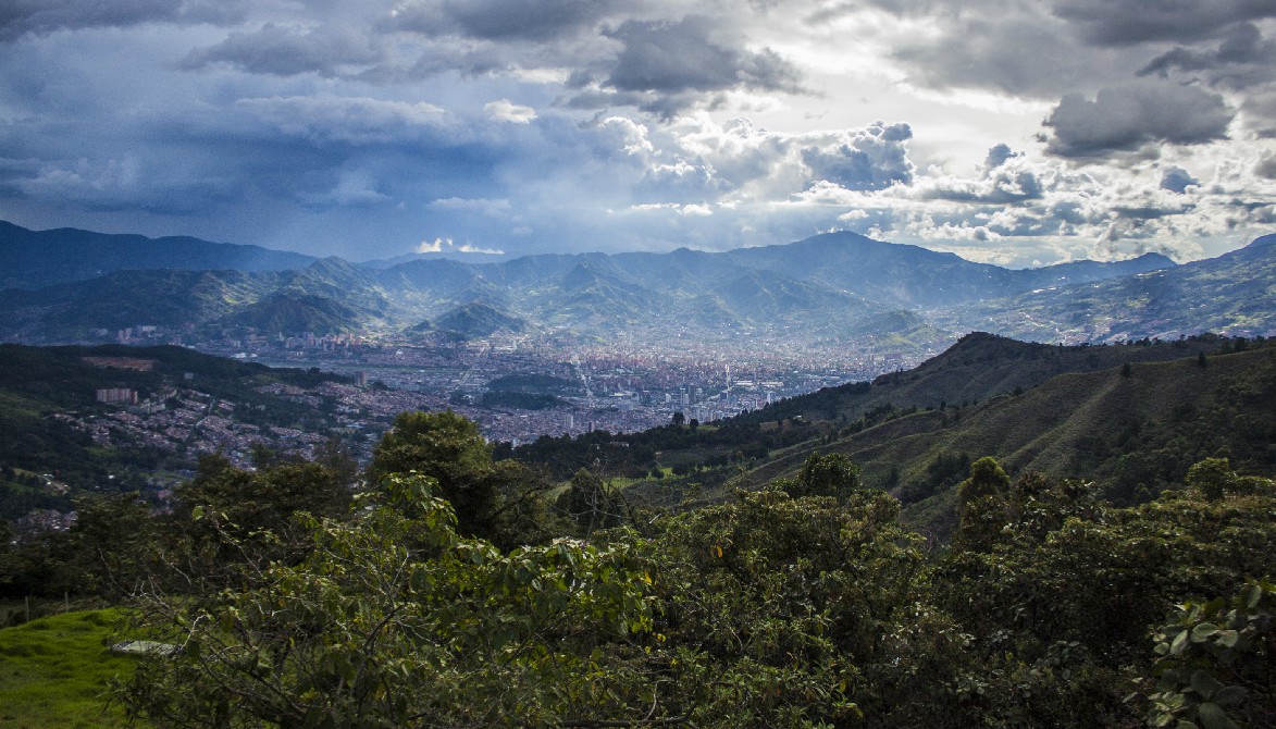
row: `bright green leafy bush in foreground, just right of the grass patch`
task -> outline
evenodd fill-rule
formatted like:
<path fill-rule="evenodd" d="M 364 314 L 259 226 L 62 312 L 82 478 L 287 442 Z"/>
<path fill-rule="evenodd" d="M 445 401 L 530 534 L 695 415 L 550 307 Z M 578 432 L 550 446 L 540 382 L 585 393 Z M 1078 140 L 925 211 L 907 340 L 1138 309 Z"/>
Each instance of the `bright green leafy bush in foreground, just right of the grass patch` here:
<path fill-rule="evenodd" d="M 606 691 L 600 650 L 651 627 L 635 545 L 503 554 L 456 532 L 429 476 L 380 483 L 348 520 L 300 517 L 300 562 L 253 559 L 211 595 L 147 595 L 137 628 L 179 650 L 117 689 L 129 712 L 166 726 L 590 726 L 652 709 L 651 691 Z"/>

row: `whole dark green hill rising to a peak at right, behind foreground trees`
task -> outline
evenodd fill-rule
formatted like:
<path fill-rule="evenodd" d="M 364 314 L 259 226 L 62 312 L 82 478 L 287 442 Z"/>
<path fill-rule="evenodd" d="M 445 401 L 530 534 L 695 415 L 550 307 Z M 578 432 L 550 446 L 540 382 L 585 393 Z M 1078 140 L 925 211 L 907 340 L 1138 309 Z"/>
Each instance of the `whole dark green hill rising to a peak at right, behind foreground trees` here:
<path fill-rule="evenodd" d="M 661 508 L 720 500 L 730 486 L 794 476 L 815 452 L 843 453 L 863 466 L 865 485 L 889 490 L 914 523 L 942 535 L 951 488 L 983 456 L 1012 477 L 1097 481 L 1123 504 L 1182 484 L 1206 457 L 1276 472 L 1276 347 L 1265 345 L 1201 336 L 1050 346 L 974 333 L 912 370 L 730 420 L 545 437 L 501 453 L 563 479 L 601 467 Z"/>

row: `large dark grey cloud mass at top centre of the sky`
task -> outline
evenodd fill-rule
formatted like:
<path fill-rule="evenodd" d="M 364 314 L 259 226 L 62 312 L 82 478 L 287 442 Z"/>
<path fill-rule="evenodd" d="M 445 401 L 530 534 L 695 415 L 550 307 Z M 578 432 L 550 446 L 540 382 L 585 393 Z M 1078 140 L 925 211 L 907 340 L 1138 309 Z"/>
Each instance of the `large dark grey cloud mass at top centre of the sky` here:
<path fill-rule="evenodd" d="M 727 92 L 801 93 L 801 74 L 769 47 L 746 47 L 723 18 L 624 19 L 621 0 L 426 0 L 397 8 L 383 32 L 430 38 L 415 78 L 570 69 L 558 106 L 630 106 L 670 119 L 721 106 Z"/>

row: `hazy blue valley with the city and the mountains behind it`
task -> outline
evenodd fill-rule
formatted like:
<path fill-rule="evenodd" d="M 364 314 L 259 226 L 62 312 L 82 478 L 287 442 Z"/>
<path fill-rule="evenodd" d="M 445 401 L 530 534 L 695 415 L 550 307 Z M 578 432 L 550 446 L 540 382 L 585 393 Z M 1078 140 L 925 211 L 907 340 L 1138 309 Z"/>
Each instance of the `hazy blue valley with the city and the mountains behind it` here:
<path fill-rule="evenodd" d="M 0 340 L 319 368 L 527 443 L 721 420 L 914 368 L 972 329 L 1065 345 L 1271 336 L 1268 243 L 1184 266 L 1147 254 L 1023 271 L 845 232 L 716 254 L 355 264 L 5 223 Z M 489 387 L 521 374 L 578 387 L 531 407 L 535 393 Z"/>

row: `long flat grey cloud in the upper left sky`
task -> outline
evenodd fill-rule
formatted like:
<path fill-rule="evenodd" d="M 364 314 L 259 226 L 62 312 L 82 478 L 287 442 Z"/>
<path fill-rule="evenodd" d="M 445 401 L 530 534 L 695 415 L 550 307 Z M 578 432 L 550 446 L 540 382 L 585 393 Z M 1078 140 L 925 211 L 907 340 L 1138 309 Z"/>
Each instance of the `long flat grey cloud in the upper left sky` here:
<path fill-rule="evenodd" d="M 231 33 L 221 43 L 193 51 L 182 61 L 186 70 L 228 64 L 256 74 L 332 77 L 343 66 L 373 64 L 382 57 L 369 37 L 351 28 L 300 32 L 265 24 L 251 33 Z"/>

